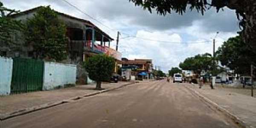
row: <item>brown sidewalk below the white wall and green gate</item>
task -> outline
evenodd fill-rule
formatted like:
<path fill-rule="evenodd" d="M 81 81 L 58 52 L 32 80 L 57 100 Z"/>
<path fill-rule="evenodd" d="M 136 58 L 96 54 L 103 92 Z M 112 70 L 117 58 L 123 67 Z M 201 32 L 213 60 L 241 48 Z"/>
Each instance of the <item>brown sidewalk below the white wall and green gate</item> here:
<path fill-rule="evenodd" d="M 103 83 L 102 88 L 112 89 L 116 87 L 121 87 L 129 83 L 131 82 Z M 83 96 L 90 93 L 96 93 L 98 92 L 98 90 L 94 90 L 95 87 L 95 84 L 78 85 L 76 87 L 69 87 L 59 90 L 39 91 L 10 96 L 0 96 L 0 115 L 4 115 L 6 113 L 13 113 L 15 111 L 39 105 L 52 104 L 76 96 Z"/>

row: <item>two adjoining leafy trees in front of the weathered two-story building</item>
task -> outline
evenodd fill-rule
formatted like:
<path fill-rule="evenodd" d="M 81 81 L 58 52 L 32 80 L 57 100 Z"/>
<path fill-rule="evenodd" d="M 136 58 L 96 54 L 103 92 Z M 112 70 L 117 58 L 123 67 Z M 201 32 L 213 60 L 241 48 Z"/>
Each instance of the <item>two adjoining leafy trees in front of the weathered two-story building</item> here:
<path fill-rule="evenodd" d="M 32 18 L 14 20 L 19 11 L 0 2 L 0 40 L 3 45 L 18 48 L 32 46 L 35 58 L 62 61 L 67 58 L 66 26 L 49 6 L 41 7 Z"/>

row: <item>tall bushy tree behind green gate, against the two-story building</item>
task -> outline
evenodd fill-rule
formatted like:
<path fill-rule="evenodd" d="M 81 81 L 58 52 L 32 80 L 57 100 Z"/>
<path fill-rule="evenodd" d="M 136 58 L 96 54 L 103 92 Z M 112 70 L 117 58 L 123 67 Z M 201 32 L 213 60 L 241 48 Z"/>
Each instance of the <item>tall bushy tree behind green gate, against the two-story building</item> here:
<path fill-rule="evenodd" d="M 36 58 L 61 61 L 67 58 L 66 26 L 49 6 L 41 7 L 26 22 L 27 45 L 32 44 Z"/>

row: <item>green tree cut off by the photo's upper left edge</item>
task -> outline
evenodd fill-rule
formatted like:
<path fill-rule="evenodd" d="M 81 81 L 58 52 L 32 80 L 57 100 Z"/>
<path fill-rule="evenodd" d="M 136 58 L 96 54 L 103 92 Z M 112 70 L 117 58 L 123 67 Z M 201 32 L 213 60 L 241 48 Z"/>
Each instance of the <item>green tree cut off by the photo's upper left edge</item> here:
<path fill-rule="evenodd" d="M 19 11 L 7 9 L 0 2 L 0 41 L 9 47 L 11 44 L 15 44 L 13 37 L 23 30 L 23 24 L 10 17 L 17 12 Z"/>

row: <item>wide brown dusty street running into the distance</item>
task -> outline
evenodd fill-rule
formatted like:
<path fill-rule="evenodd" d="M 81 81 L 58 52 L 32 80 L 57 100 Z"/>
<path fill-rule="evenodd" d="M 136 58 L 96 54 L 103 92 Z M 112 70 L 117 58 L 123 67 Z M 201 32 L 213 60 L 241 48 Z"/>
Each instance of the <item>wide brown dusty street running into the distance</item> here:
<path fill-rule="evenodd" d="M 154 81 L 0 122 L 0 128 L 236 128 L 183 84 Z"/>

